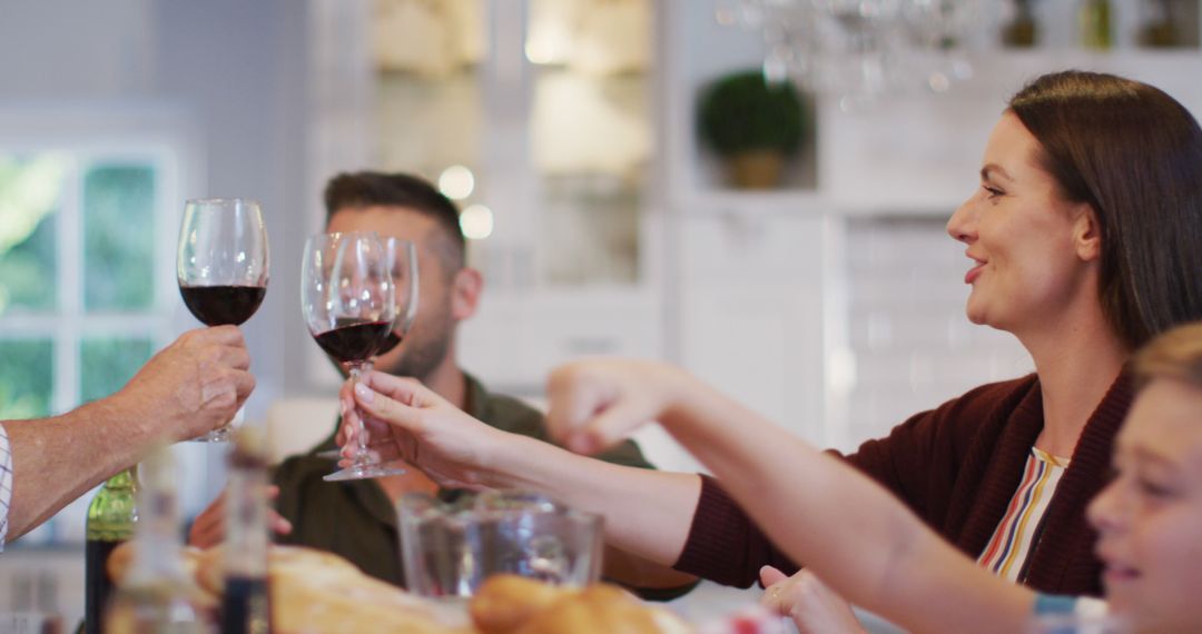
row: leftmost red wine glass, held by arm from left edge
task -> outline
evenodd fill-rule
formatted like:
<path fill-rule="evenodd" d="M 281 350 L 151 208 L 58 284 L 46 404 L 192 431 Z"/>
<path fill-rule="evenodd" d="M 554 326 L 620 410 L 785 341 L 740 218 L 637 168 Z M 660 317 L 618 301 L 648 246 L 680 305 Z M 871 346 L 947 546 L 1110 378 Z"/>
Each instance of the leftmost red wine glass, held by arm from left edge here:
<path fill-rule="evenodd" d="M 258 203 L 208 198 L 184 204 L 175 253 L 179 294 L 206 325 L 240 325 L 267 294 L 267 228 Z M 234 420 L 242 417 L 242 409 Z M 230 423 L 195 442 L 226 442 Z"/>

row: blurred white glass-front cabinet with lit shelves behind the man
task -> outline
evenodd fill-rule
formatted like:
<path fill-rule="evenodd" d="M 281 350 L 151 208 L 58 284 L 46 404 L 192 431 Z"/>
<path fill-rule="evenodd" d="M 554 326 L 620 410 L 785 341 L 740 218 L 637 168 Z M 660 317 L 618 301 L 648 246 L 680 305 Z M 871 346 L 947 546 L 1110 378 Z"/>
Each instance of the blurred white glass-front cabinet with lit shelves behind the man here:
<path fill-rule="evenodd" d="M 650 0 L 315 2 L 313 181 L 409 172 L 456 201 L 486 280 L 460 357 L 498 389 L 536 393 L 579 354 L 661 353 L 654 13 Z"/>

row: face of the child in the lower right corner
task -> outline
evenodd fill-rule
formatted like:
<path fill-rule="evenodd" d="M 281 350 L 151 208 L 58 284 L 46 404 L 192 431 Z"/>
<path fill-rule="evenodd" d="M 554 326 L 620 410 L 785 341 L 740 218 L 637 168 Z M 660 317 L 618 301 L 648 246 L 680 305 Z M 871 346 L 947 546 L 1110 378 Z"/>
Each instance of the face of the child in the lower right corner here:
<path fill-rule="evenodd" d="M 1202 632 L 1202 389 L 1158 378 L 1115 441 L 1090 504 L 1106 598 L 1141 629 Z"/>

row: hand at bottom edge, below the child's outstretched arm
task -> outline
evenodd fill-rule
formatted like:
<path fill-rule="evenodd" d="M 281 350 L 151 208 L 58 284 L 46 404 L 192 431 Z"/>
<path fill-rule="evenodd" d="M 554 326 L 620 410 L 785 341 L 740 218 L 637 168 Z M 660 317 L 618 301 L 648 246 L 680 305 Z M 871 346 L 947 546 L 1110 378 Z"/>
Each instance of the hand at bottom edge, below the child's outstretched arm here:
<path fill-rule="evenodd" d="M 760 569 L 760 582 L 764 586 L 760 605 L 792 618 L 801 634 L 864 633 L 851 604 L 805 568 L 785 576 L 772 566 L 764 566 Z"/>

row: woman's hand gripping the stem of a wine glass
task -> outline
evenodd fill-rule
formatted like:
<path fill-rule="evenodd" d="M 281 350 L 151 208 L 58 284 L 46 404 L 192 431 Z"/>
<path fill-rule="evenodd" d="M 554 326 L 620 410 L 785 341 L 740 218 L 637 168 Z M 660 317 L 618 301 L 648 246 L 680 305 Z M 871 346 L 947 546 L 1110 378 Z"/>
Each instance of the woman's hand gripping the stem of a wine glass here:
<path fill-rule="evenodd" d="M 412 378 L 369 372 L 353 385 L 347 381 L 340 399 L 344 465 L 355 451 L 359 412 L 370 451 L 381 461 L 403 460 L 441 486 L 493 486 L 495 451 L 512 441 L 512 435 L 476 420 Z"/>

